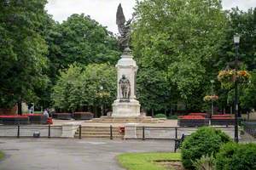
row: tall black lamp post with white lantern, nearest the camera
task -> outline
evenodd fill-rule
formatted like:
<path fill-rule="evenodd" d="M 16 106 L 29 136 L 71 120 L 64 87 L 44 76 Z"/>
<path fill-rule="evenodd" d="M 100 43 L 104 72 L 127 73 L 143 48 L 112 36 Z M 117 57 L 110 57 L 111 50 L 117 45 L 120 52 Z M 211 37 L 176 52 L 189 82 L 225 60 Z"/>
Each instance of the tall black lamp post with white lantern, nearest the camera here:
<path fill-rule="evenodd" d="M 236 34 L 234 36 L 234 43 L 236 48 L 236 60 L 235 60 L 235 71 L 236 71 L 236 79 L 235 79 L 235 141 L 238 143 L 238 96 L 237 96 L 237 62 L 238 62 L 238 48 L 239 48 L 240 36 Z"/>

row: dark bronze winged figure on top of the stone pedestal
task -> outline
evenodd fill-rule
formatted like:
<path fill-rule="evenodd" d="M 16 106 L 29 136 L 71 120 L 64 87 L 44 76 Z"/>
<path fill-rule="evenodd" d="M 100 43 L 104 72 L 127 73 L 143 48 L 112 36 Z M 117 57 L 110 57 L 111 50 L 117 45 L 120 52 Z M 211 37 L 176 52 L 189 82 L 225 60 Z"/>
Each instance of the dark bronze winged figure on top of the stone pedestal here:
<path fill-rule="evenodd" d="M 121 3 L 119 4 L 117 13 L 116 13 L 116 24 L 119 27 L 119 46 L 122 49 L 129 48 L 129 41 L 131 36 L 131 21 L 134 19 L 134 14 L 132 15 L 131 20 L 128 20 L 125 23 L 125 14 Z"/>

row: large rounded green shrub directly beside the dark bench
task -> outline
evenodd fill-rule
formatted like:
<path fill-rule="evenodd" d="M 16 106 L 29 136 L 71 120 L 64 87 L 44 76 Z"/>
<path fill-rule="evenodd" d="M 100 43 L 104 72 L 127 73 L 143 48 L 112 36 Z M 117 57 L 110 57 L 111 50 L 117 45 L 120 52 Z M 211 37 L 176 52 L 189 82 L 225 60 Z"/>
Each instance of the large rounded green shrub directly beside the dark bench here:
<path fill-rule="evenodd" d="M 201 127 L 183 142 L 181 153 L 183 167 L 195 169 L 193 161 L 218 152 L 221 144 L 230 142 L 230 137 L 212 127 Z"/>

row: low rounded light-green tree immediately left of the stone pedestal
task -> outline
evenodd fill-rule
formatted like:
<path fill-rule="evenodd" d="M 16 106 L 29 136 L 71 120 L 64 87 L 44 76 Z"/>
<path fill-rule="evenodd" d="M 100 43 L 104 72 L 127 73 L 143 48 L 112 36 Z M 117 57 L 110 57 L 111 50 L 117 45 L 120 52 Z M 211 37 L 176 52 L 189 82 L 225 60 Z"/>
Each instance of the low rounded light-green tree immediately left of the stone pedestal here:
<path fill-rule="evenodd" d="M 54 105 L 62 111 L 84 111 L 91 107 L 97 113 L 97 107 L 108 107 L 113 103 L 115 79 L 116 71 L 111 65 L 70 65 L 67 71 L 61 71 L 54 87 Z"/>

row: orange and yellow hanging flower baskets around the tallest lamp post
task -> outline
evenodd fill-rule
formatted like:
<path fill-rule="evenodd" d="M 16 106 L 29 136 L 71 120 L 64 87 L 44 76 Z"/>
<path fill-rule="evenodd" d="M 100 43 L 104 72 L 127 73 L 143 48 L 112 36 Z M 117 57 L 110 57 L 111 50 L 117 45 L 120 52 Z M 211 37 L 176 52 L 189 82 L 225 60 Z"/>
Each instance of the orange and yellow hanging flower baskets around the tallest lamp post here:
<path fill-rule="evenodd" d="M 247 83 L 251 75 L 248 71 L 226 70 L 218 72 L 218 81 L 223 88 L 232 88 L 234 82 Z"/>

